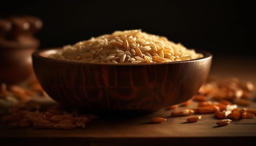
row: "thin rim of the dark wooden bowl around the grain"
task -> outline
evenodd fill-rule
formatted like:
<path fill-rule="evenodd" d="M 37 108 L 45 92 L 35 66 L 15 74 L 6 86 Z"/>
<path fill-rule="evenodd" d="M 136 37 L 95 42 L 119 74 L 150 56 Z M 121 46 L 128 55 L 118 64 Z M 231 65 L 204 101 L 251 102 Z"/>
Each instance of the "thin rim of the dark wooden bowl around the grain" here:
<path fill-rule="evenodd" d="M 45 57 L 44 55 L 42 55 L 45 52 L 56 52 L 58 50 L 61 50 L 62 47 L 49 47 L 49 48 L 43 48 L 43 49 L 37 49 L 36 51 L 34 51 L 32 53 L 32 58 L 40 58 L 43 60 L 49 60 L 52 62 L 59 62 L 59 63 L 69 63 L 69 64 L 97 64 L 97 65 L 110 65 L 110 66 L 145 66 L 145 65 L 157 65 L 157 64 L 177 64 L 177 63 L 185 63 L 185 62 L 197 62 L 197 61 L 203 61 L 203 60 L 208 60 L 213 58 L 213 54 L 210 53 L 209 51 L 206 50 L 202 50 L 202 49 L 194 49 L 196 53 L 202 53 L 204 56 L 202 58 L 197 58 L 197 59 L 192 59 L 192 60 L 183 60 L 183 61 L 174 61 L 174 62 L 157 62 L 157 63 L 136 63 L 136 64 L 132 64 L 132 63 L 100 63 L 100 62 L 77 62 L 77 61 L 71 61 L 71 60 L 58 60 L 58 59 L 54 59 L 54 58 L 48 58 Z"/>

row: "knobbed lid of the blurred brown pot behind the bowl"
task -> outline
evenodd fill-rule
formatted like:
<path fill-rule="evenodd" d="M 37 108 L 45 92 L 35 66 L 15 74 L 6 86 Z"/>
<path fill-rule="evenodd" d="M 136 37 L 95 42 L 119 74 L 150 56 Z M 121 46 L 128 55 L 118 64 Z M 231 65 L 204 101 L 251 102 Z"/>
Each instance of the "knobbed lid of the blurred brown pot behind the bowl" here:
<path fill-rule="evenodd" d="M 38 47 L 40 42 L 34 33 L 43 22 L 31 15 L 11 15 L 0 18 L 0 48 Z"/>

